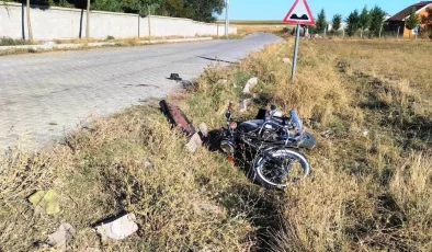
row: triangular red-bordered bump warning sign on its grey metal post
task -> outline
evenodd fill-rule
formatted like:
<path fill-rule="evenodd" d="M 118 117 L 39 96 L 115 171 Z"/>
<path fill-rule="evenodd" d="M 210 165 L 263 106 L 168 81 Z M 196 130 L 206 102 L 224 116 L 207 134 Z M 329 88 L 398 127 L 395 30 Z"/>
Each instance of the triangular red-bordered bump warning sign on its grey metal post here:
<path fill-rule="evenodd" d="M 309 5 L 307 4 L 306 0 L 295 0 L 293 7 L 289 9 L 283 22 L 297 25 L 296 39 L 294 46 L 293 69 L 291 71 L 291 81 L 294 83 L 295 73 L 297 69 L 298 44 L 300 39 L 300 24 L 312 25 L 315 24 L 315 19 L 312 13 L 310 12 Z"/>

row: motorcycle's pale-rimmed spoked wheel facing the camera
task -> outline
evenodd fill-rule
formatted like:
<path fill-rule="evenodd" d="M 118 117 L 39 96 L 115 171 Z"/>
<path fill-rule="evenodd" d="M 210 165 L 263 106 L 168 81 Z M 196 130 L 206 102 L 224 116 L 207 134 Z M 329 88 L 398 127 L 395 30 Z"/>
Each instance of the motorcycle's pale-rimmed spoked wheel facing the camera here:
<path fill-rule="evenodd" d="M 252 163 L 252 170 L 257 182 L 266 188 L 285 188 L 310 173 L 306 157 L 287 148 L 261 151 Z"/>

